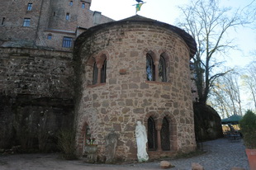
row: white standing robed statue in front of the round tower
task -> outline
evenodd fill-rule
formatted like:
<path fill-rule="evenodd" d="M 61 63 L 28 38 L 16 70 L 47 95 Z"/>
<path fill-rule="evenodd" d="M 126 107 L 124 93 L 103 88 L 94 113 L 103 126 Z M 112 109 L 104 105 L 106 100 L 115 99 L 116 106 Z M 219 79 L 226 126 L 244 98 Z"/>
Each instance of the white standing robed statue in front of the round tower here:
<path fill-rule="evenodd" d="M 135 129 L 136 141 L 137 141 L 137 157 L 139 162 L 145 162 L 149 160 L 149 155 L 146 151 L 146 144 L 148 142 L 145 125 L 142 125 L 140 121 L 137 121 Z"/>

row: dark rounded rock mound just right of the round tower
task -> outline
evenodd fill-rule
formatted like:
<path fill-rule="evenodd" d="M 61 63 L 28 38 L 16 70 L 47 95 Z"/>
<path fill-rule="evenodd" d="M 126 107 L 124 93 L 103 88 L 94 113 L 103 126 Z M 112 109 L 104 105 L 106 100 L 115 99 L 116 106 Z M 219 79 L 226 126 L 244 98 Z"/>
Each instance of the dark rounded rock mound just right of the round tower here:
<path fill-rule="evenodd" d="M 211 107 L 194 103 L 195 133 L 198 141 L 223 137 L 221 120 Z"/>

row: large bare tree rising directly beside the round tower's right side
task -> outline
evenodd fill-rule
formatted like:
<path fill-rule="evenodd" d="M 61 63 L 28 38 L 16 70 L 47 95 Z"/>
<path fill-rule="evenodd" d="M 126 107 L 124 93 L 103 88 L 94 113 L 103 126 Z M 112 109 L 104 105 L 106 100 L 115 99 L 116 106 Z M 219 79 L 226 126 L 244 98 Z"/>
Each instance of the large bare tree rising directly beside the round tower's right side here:
<path fill-rule="evenodd" d="M 235 48 L 232 40 L 225 35 L 231 28 L 248 23 L 241 17 L 241 12 L 231 14 L 230 8 L 220 7 L 215 0 L 191 1 L 186 7 L 179 7 L 183 19 L 178 26 L 189 32 L 197 41 L 197 53 L 192 59 L 199 102 L 206 104 L 209 92 L 216 78 L 227 72 L 216 72 L 223 62 L 220 56 Z"/>

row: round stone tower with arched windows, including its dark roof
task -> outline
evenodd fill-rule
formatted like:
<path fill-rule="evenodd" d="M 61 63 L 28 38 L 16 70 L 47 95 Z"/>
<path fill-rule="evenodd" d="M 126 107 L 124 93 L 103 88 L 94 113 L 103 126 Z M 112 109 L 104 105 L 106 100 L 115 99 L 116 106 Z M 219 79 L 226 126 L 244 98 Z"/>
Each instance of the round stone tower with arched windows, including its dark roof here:
<path fill-rule="evenodd" d="M 136 159 L 138 120 L 148 133 L 149 158 L 194 150 L 189 60 L 196 50 L 185 31 L 140 16 L 79 35 L 73 55 L 78 154 L 95 138 L 104 160 L 105 139 L 115 130 L 116 159 Z"/>

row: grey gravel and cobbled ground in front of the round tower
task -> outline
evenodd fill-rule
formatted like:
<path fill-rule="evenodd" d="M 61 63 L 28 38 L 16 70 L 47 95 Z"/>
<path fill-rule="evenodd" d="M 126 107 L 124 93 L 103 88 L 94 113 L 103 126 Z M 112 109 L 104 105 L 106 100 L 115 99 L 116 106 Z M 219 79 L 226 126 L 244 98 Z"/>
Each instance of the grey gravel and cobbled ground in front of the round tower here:
<path fill-rule="evenodd" d="M 230 170 L 240 167 L 249 170 L 249 163 L 242 141 L 230 142 L 216 139 L 203 143 L 207 153 L 192 158 L 168 160 L 175 168 L 171 170 L 191 170 L 192 163 L 200 163 L 205 170 Z M 82 160 L 65 161 L 59 154 L 15 154 L 0 156 L 0 170 L 128 170 L 160 169 L 159 162 L 133 163 L 126 165 L 88 164 Z"/>

